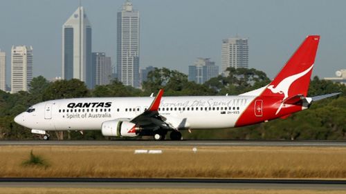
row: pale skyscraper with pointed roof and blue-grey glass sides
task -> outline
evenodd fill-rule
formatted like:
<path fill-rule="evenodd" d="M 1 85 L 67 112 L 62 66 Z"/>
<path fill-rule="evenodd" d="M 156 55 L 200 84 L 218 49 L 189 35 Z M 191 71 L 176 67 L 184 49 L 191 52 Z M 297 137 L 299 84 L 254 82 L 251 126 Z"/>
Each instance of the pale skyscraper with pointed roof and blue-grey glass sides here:
<path fill-rule="evenodd" d="M 91 24 L 82 6 L 62 26 L 62 79 L 80 79 L 92 88 Z"/>

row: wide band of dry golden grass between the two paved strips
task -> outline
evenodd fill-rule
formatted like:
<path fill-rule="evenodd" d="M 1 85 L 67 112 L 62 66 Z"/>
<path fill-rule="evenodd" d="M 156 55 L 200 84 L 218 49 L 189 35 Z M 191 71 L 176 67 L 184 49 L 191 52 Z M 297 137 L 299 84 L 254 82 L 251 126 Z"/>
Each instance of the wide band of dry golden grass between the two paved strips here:
<path fill-rule="evenodd" d="M 71 146 L 71 143 L 66 146 L 46 144 L 0 146 L 0 177 L 338 180 L 346 177 L 346 146 L 340 146 L 340 144 L 336 146 L 219 146 L 213 144 L 172 146 L 147 142 L 147 146 L 124 144 Z M 201 143 L 203 142 L 199 142 Z M 135 154 L 136 150 L 154 150 L 162 151 L 162 153 Z M 24 165 L 23 162 L 30 157 L 30 151 L 44 159 L 44 165 Z"/>

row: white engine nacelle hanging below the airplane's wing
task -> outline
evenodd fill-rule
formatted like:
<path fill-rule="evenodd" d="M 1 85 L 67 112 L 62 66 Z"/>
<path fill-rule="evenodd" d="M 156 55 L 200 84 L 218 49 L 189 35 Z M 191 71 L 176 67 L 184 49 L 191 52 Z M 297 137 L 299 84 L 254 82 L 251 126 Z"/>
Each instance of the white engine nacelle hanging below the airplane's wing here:
<path fill-rule="evenodd" d="M 115 120 L 102 123 L 102 135 L 104 136 L 135 137 L 138 135 L 138 133 L 136 133 L 138 129 L 136 124 L 125 121 Z"/>

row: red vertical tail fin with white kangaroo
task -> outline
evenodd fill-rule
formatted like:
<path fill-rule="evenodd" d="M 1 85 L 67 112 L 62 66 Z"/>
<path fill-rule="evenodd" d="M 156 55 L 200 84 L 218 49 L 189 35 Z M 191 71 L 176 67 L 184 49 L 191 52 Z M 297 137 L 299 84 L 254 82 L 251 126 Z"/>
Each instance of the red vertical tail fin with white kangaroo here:
<path fill-rule="evenodd" d="M 308 36 L 262 95 L 283 99 L 295 95 L 307 96 L 319 41 L 318 35 Z"/>

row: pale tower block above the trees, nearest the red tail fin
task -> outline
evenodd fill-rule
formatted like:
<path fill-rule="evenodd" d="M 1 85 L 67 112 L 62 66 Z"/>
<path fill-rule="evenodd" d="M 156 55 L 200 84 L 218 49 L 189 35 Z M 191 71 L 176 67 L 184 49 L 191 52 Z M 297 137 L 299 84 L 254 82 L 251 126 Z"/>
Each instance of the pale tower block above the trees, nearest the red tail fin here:
<path fill-rule="evenodd" d="M 228 67 L 248 68 L 248 39 L 235 37 L 222 40 L 222 72 L 225 73 Z"/>

